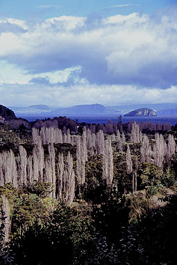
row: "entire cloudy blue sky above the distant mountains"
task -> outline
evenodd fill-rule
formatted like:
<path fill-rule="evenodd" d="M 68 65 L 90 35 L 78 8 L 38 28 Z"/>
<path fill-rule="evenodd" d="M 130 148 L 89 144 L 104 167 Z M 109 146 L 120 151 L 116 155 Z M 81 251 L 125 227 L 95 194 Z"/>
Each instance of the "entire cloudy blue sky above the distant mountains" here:
<path fill-rule="evenodd" d="M 177 103 L 177 0 L 0 0 L 0 104 Z"/>

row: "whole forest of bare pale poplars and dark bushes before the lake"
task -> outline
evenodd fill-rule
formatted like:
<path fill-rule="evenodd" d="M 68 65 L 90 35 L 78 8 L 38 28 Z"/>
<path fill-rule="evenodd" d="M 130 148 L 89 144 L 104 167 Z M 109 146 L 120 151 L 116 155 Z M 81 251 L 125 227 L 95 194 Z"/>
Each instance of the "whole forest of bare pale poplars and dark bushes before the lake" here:
<path fill-rule="evenodd" d="M 0 123 L 0 264 L 176 264 L 177 124 Z"/>

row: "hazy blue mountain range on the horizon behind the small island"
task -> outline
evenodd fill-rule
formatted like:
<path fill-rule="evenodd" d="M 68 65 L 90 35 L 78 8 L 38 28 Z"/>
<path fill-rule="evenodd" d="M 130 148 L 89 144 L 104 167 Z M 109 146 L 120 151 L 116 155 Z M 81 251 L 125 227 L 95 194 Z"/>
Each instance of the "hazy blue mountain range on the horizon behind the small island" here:
<path fill-rule="evenodd" d="M 151 108 L 156 112 L 157 116 L 177 116 L 177 104 L 133 104 L 124 106 L 109 106 L 105 107 L 101 104 L 91 105 L 77 105 L 69 108 L 52 108 L 47 105 L 32 105 L 29 107 L 13 107 L 9 106 L 11 110 L 19 117 L 41 115 L 45 117 L 50 116 L 84 116 L 84 115 L 126 115 L 128 112 L 138 108 Z"/>

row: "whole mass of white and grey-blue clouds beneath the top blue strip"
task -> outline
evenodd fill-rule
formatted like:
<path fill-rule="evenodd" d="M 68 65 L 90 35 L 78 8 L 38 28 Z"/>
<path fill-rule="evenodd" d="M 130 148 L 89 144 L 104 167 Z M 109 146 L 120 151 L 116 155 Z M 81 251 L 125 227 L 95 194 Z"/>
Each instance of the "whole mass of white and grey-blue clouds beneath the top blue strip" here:
<path fill-rule="evenodd" d="M 132 13 L 94 19 L 89 24 L 86 17 L 54 17 L 24 32 L 2 32 L 2 99 L 11 100 L 5 84 L 20 84 L 8 88 L 11 97 L 18 91 L 19 103 L 32 104 L 39 95 L 41 102 L 61 106 L 175 101 L 176 17 Z"/>

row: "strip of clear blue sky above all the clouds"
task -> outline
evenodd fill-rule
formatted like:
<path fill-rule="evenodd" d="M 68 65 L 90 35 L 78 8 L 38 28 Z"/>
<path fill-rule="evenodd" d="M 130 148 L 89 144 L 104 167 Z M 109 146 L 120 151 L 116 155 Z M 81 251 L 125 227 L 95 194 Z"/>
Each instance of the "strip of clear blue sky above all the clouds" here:
<path fill-rule="evenodd" d="M 152 12 L 165 8 L 175 0 L 1 0 L 1 16 L 17 19 L 30 19 L 31 16 L 48 18 L 55 16 L 88 16 L 100 13 L 104 16 L 110 14 L 129 14 L 131 12 Z"/>

